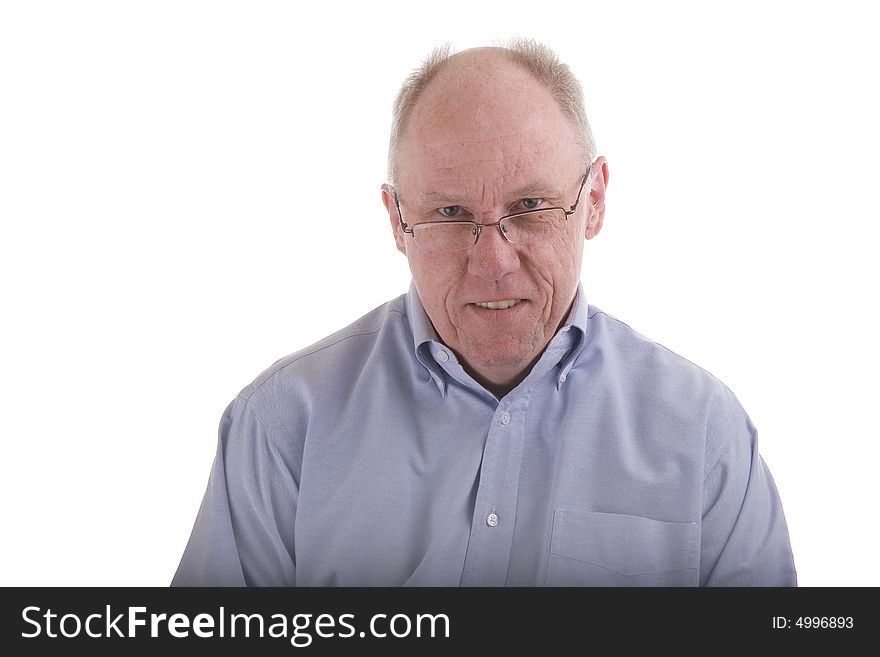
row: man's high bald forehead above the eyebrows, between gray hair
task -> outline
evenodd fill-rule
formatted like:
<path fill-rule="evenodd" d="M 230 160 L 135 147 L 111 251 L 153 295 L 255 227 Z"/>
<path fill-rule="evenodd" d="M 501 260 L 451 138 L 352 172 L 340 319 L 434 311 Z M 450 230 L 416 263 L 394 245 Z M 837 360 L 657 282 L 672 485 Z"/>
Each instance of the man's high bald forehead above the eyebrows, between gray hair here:
<path fill-rule="evenodd" d="M 498 59 L 451 65 L 413 109 L 401 144 L 401 177 L 521 185 L 574 166 L 577 134 L 550 91 Z"/>

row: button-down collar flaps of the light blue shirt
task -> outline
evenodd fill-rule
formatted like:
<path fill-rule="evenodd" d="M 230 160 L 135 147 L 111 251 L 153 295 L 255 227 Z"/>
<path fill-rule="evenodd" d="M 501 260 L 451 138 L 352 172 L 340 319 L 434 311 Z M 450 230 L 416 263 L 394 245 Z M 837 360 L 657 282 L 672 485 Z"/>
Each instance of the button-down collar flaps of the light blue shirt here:
<path fill-rule="evenodd" d="M 445 397 L 446 379 L 441 364 L 437 362 L 437 354 L 442 351 L 448 357 L 448 347 L 440 340 L 428 313 L 425 312 L 415 281 L 410 282 L 409 291 L 406 294 L 406 314 L 412 331 L 413 350 L 416 358 L 428 371 L 431 379 Z M 554 359 L 555 362 L 553 362 L 554 366 L 559 365 L 559 373 L 556 377 L 557 390 L 566 382 L 577 357 L 583 351 L 586 344 L 586 334 L 587 300 L 583 284 L 578 283 L 571 312 L 544 350 L 545 356 L 551 355 L 547 352 L 559 355 L 559 359 Z M 542 357 L 541 360 L 544 358 Z"/>

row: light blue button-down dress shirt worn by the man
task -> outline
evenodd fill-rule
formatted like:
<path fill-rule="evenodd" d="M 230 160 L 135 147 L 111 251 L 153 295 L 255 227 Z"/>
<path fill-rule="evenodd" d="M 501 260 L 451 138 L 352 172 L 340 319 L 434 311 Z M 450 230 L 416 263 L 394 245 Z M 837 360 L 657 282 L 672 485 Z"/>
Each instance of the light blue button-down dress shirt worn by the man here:
<path fill-rule="evenodd" d="M 501 400 L 415 287 L 244 388 L 175 586 L 794 586 L 736 397 L 584 301 Z"/>

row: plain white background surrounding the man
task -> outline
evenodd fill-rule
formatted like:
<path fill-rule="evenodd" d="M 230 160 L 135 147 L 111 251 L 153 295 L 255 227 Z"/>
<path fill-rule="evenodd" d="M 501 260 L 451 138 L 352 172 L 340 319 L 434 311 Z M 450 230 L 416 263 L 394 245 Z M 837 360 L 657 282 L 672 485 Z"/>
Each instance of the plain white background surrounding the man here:
<path fill-rule="evenodd" d="M 0 4 L 0 584 L 170 582 L 226 404 L 407 288 L 404 77 L 527 36 L 609 162 L 590 302 L 737 394 L 802 585 L 880 585 L 871 4 Z"/>

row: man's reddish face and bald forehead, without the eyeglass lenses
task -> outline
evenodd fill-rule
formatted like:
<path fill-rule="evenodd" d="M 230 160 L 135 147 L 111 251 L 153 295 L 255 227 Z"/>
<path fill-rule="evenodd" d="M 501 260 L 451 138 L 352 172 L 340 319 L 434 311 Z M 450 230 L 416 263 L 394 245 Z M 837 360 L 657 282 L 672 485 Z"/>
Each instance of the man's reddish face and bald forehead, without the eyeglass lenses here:
<path fill-rule="evenodd" d="M 396 189 L 410 226 L 453 218 L 489 223 L 533 207 L 568 209 L 586 173 L 575 129 L 550 93 L 509 63 L 481 59 L 431 82 L 411 116 L 398 163 Z M 428 317 L 481 382 L 518 383 L 565 319 L 584 237 L 598 232 L 586 228 L 588 194 L 584 189 L 577 212 L 544 242 L 513 244 L 491 226 L 470 249 L 449 253 L 420 248 L 418 238 L 400 230 L 386 189 L 398 248 Z M 486 307 L 499 301 L 506 303 Z"/>

